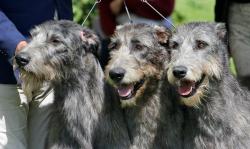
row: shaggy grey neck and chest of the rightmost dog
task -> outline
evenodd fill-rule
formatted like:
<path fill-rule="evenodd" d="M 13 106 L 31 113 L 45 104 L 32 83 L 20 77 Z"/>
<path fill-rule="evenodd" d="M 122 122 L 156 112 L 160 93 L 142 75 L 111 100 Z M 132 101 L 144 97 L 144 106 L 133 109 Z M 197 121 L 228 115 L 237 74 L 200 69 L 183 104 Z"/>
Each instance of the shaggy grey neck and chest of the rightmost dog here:
<path fill-rule="evenodd" d="M 210 81 L 207 97 L 199 108 L 184 110 L 184 145 L 191 148 L 230 148 L 237 138 L 250 138 L 249 93 L 231 74 Z M 198 139 L 199 138 L 199 139 Z M 244 140 L 238 145 L 244 146 Z M 205 146 L 204 146 L 205 145 Z"/>

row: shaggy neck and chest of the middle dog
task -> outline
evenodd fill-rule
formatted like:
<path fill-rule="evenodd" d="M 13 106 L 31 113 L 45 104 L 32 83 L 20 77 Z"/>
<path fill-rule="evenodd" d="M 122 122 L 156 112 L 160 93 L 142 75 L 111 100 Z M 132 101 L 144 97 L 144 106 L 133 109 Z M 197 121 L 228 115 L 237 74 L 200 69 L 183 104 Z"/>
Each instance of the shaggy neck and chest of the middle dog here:
<path fill-rule="evenodd" d="M 182 114 L 165 79 L 150 81 L 140 105 L 125 109 L 135 148 L 181 148 Z M 153 87 L 152 87 L 153 86 Z M 173 119 L 172 117 L 176 117 Z M 169 142 L 168 142 L 169 141 Z"/>

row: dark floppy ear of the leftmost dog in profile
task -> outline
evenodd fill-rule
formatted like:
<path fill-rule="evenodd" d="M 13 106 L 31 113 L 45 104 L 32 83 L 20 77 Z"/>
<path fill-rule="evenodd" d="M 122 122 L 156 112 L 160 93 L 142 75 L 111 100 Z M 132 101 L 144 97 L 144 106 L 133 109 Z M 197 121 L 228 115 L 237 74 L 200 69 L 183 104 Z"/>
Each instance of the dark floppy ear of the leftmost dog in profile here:
<path fill-rule="evenodd" d="M 95 35 L 94 33 L 91 33 L 85 30 L 80 32 L 80 36 L 81 36 L 82 41 L 87 43 L 86 52 L 91 52 L 97 56 L 97 53 L 99 52 L 100 45 L 101 45 L 98 36 Z"/>

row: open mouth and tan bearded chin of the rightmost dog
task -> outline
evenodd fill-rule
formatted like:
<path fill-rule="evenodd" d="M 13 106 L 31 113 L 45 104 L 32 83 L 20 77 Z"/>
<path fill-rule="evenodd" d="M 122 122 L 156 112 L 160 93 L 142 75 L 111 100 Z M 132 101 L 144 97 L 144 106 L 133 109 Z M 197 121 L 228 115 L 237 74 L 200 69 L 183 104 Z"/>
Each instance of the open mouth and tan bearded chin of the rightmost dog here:
<path fill-rule="evenodd" d="M 208 77 L 202 75 L 198 81 L 183 79 L 177 85 L 177 92 L 181 102 L 188 107 L 199 107 L 208 88 Z"/>

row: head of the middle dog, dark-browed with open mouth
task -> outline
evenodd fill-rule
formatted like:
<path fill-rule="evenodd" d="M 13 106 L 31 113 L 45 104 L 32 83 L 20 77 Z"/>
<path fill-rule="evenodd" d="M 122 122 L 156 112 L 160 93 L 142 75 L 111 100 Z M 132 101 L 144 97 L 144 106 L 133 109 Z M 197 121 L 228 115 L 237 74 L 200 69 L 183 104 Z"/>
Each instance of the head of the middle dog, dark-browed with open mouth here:
<path fill-rule="evenodd" d="M 159 79 L 162 63 L 168 57 L 164 45 L 170 31 L 159 26 L 125 24 L 117 27 L 111 39 L 111 59 L 105 70 L 108 82 L 116 88 L 122 107 L 136 105 L 145 88 Z"/>

